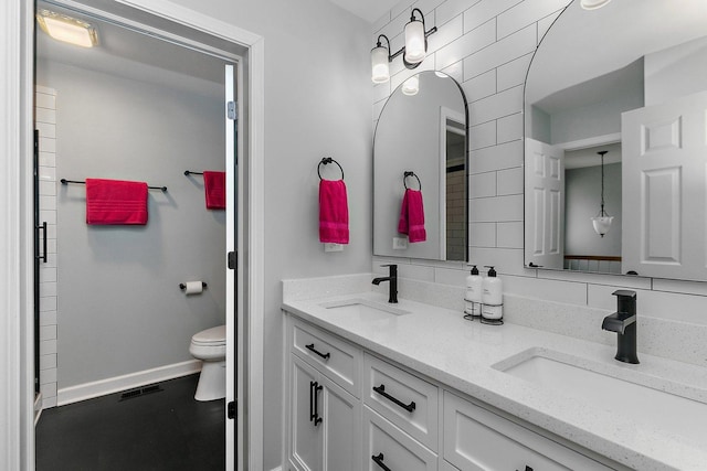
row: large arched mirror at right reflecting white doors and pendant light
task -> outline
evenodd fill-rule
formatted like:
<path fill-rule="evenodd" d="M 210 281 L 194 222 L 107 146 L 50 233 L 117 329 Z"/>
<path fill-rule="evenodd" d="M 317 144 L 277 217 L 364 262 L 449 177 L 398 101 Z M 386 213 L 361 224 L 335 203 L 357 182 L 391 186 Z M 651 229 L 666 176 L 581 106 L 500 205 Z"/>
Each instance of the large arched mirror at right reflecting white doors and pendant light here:
<path fill-rule="evenodd" d="M 526 81 L 525 264 L 707 280 L 707 1 L 579 3 Z"/>

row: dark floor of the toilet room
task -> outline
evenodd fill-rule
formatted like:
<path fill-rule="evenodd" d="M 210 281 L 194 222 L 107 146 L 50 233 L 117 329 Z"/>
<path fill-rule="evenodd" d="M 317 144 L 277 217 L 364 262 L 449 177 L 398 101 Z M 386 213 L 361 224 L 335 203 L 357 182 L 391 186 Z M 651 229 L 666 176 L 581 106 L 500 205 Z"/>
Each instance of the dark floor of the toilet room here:
<path fill-rule="evenodd" d="M 198 375 L 162 390 L 98 397 L 42 413 L 38 471 L 210 471 L 225 468 L 224 399 L 199 403 Z"/>

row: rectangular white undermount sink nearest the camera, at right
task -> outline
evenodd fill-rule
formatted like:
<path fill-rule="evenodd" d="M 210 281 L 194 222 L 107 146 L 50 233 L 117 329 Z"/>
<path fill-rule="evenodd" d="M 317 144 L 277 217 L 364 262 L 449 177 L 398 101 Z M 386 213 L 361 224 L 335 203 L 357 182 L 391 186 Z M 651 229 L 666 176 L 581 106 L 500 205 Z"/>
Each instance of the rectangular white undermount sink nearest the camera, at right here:
<path fill-rule="evenodd" d="M 579 399 L 578 406 L 588 404 L 707 447 L 703 389 L 545 349 L 521 352 L 494 368 Z"/>

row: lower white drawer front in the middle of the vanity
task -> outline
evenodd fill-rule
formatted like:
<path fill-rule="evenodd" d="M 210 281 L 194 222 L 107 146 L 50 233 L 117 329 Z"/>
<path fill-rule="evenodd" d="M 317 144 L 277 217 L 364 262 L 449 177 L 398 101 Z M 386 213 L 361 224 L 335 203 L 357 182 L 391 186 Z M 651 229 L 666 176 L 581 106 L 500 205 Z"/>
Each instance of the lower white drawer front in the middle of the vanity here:
<path fill-rule="evenodd" d="M 363 409 L 365 470 L 436 471 L 436 454 L 368 407 Z"/>

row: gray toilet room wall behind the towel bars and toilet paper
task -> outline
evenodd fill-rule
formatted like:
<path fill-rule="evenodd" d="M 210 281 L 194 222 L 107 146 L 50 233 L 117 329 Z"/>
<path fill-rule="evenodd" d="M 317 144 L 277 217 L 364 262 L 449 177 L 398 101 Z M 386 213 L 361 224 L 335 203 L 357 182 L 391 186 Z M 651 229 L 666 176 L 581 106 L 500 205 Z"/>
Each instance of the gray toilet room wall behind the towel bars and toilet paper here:
<path fill-rule="evenodd" d="M 196 95 L 45 61 L 36 82 L 57 94 L 57 180 L 169 189 L 149 192 L 147 226 L 87 226 L 85 188 L 59 184 L 59 387 L 191 360 L 191 335 L 224 321 L 225 225 L 182 172 L 223 169 L 223 85 Z M 188 298 L 192 279 L 209 288 Z"/>

